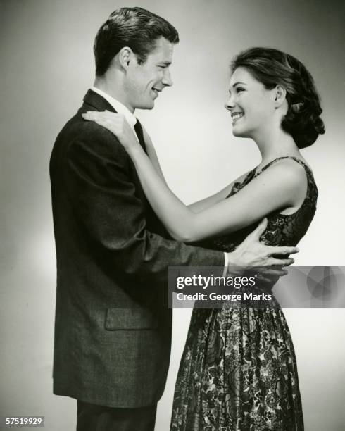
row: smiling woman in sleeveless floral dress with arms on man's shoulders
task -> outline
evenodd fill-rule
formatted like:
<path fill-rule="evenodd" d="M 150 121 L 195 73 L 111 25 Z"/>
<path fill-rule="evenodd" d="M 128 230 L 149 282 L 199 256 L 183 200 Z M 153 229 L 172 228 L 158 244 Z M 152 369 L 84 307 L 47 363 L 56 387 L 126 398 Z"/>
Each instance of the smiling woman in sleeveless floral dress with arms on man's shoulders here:
<path fill-rule="evenodd" d="M 299 151 L 325 131 L 313 78 L 293 56 L 267 48 L 243 51 L 231 72 L 225 107 L 233 133 L 253 139 L 262 160 L 191 206 L 168 189 L 156 157 L 151 163 L 121 116 L 89 113 L 84 118 L 118 136 L 151 206 L 175 239 L 232 251 L 266 216 L 263 241 L 294 246 L 308 230 L 318 196 Z M 294 346 L 280 308 L 194 309 L 171 429 L 303 430 Z"/>

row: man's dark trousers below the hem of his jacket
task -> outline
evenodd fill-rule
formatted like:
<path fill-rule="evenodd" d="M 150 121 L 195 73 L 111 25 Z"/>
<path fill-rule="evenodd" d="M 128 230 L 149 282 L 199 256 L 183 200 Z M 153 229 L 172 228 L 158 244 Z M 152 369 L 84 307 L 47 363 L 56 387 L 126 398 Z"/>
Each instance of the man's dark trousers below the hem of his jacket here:
<path fill-rule="evenodd" d="M 114 408 L 77 401 L 77 431 L 154 431 L 156 410 L 157 404 Z"/>

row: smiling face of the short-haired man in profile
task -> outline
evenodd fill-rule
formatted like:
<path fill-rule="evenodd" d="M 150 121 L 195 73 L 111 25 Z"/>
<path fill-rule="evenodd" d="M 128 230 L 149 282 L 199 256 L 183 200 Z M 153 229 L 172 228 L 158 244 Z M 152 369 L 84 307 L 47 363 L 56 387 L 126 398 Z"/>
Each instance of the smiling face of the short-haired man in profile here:
<path fill-rule="evenodd" d="M 172 85 L 169 67 L 173 49 L 174 45 L 161 37 L 144 63 L 138 64 L 136 58 L 130 62 L 124 84 L 130 108 L 152 109 L 158 93 Z"/>

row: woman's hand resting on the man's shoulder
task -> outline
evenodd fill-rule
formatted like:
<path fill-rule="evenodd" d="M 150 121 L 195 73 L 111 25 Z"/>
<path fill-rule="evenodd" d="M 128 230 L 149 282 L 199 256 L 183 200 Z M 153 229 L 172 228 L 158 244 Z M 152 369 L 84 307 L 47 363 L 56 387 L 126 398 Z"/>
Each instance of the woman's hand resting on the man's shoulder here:
<path fill-rule="evenodd" d="M 141 148 L 134 131 L 125 119 L 125 115 L 110 111 L 87 111 L 87 113 L 82 114 L 82 117 L 84 120 L 94 121 L 94 123 L 110 130 L 127 152 L 138 147 Z"/>

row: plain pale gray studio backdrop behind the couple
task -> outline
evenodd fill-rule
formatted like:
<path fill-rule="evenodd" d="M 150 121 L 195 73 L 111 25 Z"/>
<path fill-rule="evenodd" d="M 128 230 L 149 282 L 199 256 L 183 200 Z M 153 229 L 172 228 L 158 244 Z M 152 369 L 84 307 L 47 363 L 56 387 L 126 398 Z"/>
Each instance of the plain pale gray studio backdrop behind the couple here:
<path fill-rule="evenodd" d="M 56 263 L 49 156 L 94 79 L 96 31 L 120 6 L 142 6 L 180 32 L 174 86 L 138 111 L 170 187 L 186 203 L 218 191 L 260 161 L 232 137 L 225 111 L 230 58 L 249 46 L 288 51 L 315 77 L 326 135 L 303 151 L 318 211 L 296 265 L 344 265 L 344 2 L 1 1 L 1 411 L 73 430 L 76 403 L 51 394 Z M 168 384 L 157 431 L 168 430 L 189 310 L 176 310 Z M 343 310 L 287 310 L 307 431 L 344 429 Z"/>

